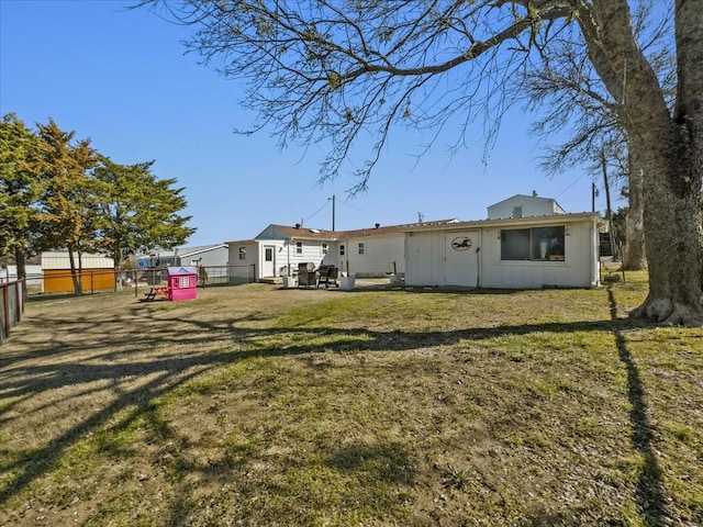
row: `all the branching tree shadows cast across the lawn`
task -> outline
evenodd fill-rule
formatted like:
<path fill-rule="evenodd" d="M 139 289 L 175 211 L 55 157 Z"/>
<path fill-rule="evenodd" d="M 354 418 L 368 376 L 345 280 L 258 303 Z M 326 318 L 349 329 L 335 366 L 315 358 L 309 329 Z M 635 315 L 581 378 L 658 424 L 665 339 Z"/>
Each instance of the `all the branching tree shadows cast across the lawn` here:
<path fill-rule="evenodd" d="M 646 525 L 662 525 L 666 518 L 665 495 L 661 469 L 654 451 L 654 437 L 648 424 L 644 389 L 626 339 L 621 333 L 616 318 L 616 305 L 612 290 L 609 290 L 611 318 L 591 322 L 568 322 L 546 324 L 505 325 L 500 327 L 473 327 L 457 330 L 437 332 L 378 332 L 365 328 L 323 327 L 276 327 L 258 328 L 247 324 L 258 317 L 256 313 L 242 317 L 225 317 L 220 321 L 189 318 L 178 312 L 158 313 L 144 310 L 140 313 L 138 333 L 120 333 L 124 321 L 104 321 L 99 317 L 86 317 L 80 321 L 67 314 L 52 313 L 38 321 L 54 327 L 55 340 L 47 343 L 37 355 L 32 341 L 26 341 L 25 352 L 14 352 L 2 366 L 0 392 L 3 396 L 21 400 L 41 395 L 64 386 L 86 384 L 80 396 L 88 393 L 90 383 L 103 383 L 94 390 L 112 390 L 118 396 L 98 412 L 85 416 L 69 429 L 54 437 L 43 447 L 34 450 L 31 459 L 21 459 L 8 464 L 3 470 L 14 473 L 5 480 L 0 490 L 0 503 L 21 493 L 34 480 L 52 470 L 55 462 L 86 434 L 104 427 L 116 414 L 130 410 L 129 419 L 137 419 L 149 411 L 155 397 L 167 394 L 180 385 L 197 379 L 209 370 L 223 365 L 253 357 L 280 357 L 315 354 L 322 351 L 406 351 L 436 346 L 450 346 L 461 340 L 482 340 L 506 335 L 527 335 L 535 332 L 609 332 L 615 335 L 620 359 L 627 369 L 628 396 L 632 405 L 631 421 L 635 429 L 633 444 L 641 452 L 645 468 L 637 486 L 637 504 Z M 82 332 L 78 340 L 63 340 L 66 330 Z M 271 346 L 266 337 L 274 334 L 288 334 L 290 339 L 283 345 Z M 330 344 L 310 344 L 315 341 Z M 339 337 L 336 339 L 336 337 Z M 101 338 L 102 337 L 102 338 Z M 21 339 L 22 337 L 20 337 Z M 203 351 L 200 347 L 208 339 L 220 339 L 215 350 Z M 336 340 L 335 340 L 336 339 Z M 67 361 L 65 357 L 79 354 L 91 347 L 90 355 L 78 362 Z M 154 347 L 153 356 L 138 356 L 147 346 Z M 169 355 L 170 346 L 179 346 L 178 355 Z M 116 349 L 115 349 L 116 348 Z M 183 351 L 186 349 L 187 351 Z M 44 361 L 26 361 L 29 357 L 43 358 Z M 133 358 L 134 357 L 134 358 Z M 138 357 L 138 358 L 137 358 Z M 314 362 L 310 367 L 316 367 Z M 124 379 L 144 378 L 137 386 L 125 388 Z M 8 419 L 12 403 L 0 408 L 0 423 Z M 14 417 L 11 417 L 14 418 Z M 16 417 L 20 418 L 20 417 Z M 126 425 L 125 425 L 126 426 Z M 166 436 L 167 434 L 161 434 Z M 390 449 L 390 450 L 389 450 Z M 337 470 L 361 470 L 358 463 L 378 460 L 392 460 L 379 475 L 391 482 L 409 483 L 412 471 L 408 471 L 409 452 L 397 451 L 393 446 L 352 445 L 331 452 L 328 463 Z M 549 524 L 548 524 L 549 525 Z"/>

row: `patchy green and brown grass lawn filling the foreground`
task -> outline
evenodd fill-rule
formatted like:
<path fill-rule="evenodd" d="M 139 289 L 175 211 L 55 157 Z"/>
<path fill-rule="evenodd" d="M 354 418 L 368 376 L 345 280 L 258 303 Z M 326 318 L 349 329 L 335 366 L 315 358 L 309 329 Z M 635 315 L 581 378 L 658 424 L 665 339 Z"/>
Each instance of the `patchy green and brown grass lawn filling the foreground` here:
<path fill-rule="evenodd" d="M 703 333 L 594 290 L 30 302 L 2 526 L 701 526 Z"/>

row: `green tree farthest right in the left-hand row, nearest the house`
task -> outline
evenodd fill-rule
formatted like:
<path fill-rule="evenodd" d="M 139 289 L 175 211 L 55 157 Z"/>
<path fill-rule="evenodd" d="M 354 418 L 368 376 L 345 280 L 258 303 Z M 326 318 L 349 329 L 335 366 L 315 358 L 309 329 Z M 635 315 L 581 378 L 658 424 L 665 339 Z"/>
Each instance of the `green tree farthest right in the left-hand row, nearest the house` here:
<path fill-rule="evenodd" d="M 118 276 L 130 255 L 174 248 L 196 231 L 186 225 L 190 216 L 179 214 L 186 206 L 183 189 L 172 189 L 174 179 L 159 181 L 153 165 L 119 165 L 103 158 L 93 170 L 96 246 L 114 260 Z"/>

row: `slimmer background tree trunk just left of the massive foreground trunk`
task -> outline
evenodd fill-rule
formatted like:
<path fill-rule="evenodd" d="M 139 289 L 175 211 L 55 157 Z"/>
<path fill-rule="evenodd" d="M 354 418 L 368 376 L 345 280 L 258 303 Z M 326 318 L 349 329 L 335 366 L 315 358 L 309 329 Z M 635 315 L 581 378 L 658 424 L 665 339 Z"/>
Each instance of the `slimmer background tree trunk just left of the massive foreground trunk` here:
<path fill-rule="evenodd" d="M 628 209 L 625 215 L 625 255 L 623 256 L 623 269 L 638 271 L 647 269 L 645 251 L 645 223 L 643 204 L 643 175 L 641 165 L 631 150 L 628 156 Z"/>

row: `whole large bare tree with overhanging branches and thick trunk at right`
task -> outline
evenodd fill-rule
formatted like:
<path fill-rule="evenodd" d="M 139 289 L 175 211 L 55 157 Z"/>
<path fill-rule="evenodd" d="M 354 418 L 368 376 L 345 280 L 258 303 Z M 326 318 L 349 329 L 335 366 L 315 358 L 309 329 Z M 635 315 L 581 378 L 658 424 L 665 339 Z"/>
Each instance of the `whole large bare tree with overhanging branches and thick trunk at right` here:
<path fill-rule="evenodd" d="M 376 144 L 369 173 L 398 123 L 466 126 L 500 116 L 555 35 L 574 31 L 643 171 L 649 294 L 633 316 L 703 324 L 703 10 L 674 5 L 677 97 L 667 104 L 633 29 L 627 0 L 145 0 L 198 30 L 190 48 L 247 81 L 243 103 L 278 141 L 327 141 L 322 178 L 335 177 L 355 142 Z M 511 82 L 515 79 L 515 82 Z M 513 91 L 506 91 L 505 87 Z M 496 123 L 496 119 L 488 122 Z M 495 125 L 489 125 L 489 135 Z"/>

